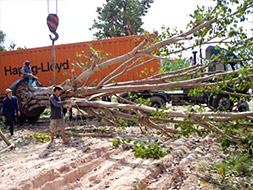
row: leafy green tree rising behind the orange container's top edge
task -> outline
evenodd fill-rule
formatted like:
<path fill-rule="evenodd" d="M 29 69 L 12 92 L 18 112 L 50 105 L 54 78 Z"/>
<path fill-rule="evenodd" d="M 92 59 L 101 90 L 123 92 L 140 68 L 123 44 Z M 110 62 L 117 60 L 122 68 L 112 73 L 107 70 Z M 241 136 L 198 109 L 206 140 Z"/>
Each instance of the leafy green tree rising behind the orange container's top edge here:
<path fill-rule="evenodd" d="M 98 20 L 90 30 L 96 29 L 97 39 L 143 34 L 142 16 L 145 16 L 153 0 L 107 0 L 97 8 Z"/>

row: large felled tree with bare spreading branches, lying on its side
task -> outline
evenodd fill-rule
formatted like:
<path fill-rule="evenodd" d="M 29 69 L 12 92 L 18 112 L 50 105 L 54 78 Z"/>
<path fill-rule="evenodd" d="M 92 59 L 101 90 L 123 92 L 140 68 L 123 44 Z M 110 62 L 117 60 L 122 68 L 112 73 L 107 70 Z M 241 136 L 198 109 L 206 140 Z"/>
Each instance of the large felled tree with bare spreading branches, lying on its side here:
<path fill-rule="evenodd" d="M 241 147 L 252 148 L 252 111 L 238 113 L 218 110 L 215 112 L 214 110 L 210 112 L 203 106 L 190 106 L 187 111 L 175 111 L 175 108 L 153 108 L 141 104 L 142 102 L 130 102 L 118 96 L 120 93 L 130 91 L 188 88 L 192 89 L 192 95 L 197 96 L 213 93 L 217 96 L 218 94 L 230 96 L 231 101 L 250 99 L 251 95 L 235 92 L 253 87 L 253 68 L 249 64 L 252 63 L 253 37 L 247 36 L 241 26 L 241 22 L 245 22 L 247 16 L 252 16 L 252 7 L 251 0 L 218 0 L 215 7 L 198 7 L 191 15 L 192 20 L 184 32 L 166 29 L 161 39 L 156 39 L 152 43 L 149 43 L 150 40 L 144 40 L 131 52 L 109 60 L 98 57 L 99 54 L 93 50 L 87 60 L 91 66 L 79 76 L 76 76 L 73 71 L 73 78 L 61 84 L 64 88 L 63 98 L 72 99 L 73 106 L 76 108 L 83 109 L 113 125 L 120 125 L 122 120 L 130 120 L 140 127 L 159 130 L 168 137 L 188 136 L 191 133 L 203 135 L 212 132 L 217 137 L 222 137 L 224 146 L 236 143 Z M 184 44 L 189 40 L 192 41 L 190 44 Z M 223 45 L 227 50 L 220 51 L 209 59 L 202 58 L 202 64 L 177 71 L 156 73 L 147 79 L 112 82 L 118 76 L 147 63 L 148 61 L 138 62 L 138 60 L 145 60 L 144 57 L 168 60 L 172 55 L 182 54 L 188 49 L 210 43 L 217 45 L 216 50 L 218 46 Z M 238 57 L 229 56 L 235 52 Z M 213 64 L 226 65 L 231 62 L 244 62 L 245 66 L 235 71 L 221 70 L 212 73 L 205 71 Z M 103 80 L 88 83 L 92 74 L 117 63 L 122 64 Z M 235 92 L 227 91 L 228 85 Z M 27 89 L 26 86 L 20 88 L 18 98 L 23 105 L 21 109 L 34 110 L 48 106 L 48 94 L 51 88 Z M 101 97 L 108 95 L 115 95 L 121 101 L 101 101 Z"/>

